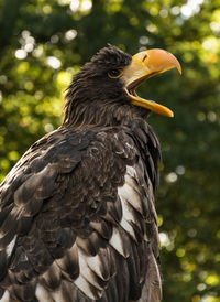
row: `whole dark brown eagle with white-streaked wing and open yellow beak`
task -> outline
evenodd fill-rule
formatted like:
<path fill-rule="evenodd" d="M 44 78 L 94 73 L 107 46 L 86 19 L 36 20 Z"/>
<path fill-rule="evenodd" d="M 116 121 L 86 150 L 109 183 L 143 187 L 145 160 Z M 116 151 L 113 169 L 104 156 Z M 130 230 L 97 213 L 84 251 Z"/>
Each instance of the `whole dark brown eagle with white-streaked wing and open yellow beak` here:
<path fill-rule="evenodd" d="M 161 147 L 146 118 L 173 112 L 136 87 L 173 67 L 164 50 L 108 45 L 74 76 L 62 126 L 0 186 L 0 301 L 162 300 Z"/>

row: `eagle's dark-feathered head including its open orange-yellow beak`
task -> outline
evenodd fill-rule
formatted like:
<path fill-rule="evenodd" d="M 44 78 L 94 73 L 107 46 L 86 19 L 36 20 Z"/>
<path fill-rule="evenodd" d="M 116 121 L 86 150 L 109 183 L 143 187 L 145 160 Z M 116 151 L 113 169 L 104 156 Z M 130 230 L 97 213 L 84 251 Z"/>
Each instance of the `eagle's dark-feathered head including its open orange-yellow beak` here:
<path fill-rule="evenodd" d="M 145 79 L 174 67 L 182 73 L 177 58 L 158 48 L 134 56 L 112 45 L 100 50 L 68 87 L 64 123 L 118 125 L 128 116 L 144 117 L 151 111 L 173 117 L 167 107 L 141 98 L 135 89 Z"/>

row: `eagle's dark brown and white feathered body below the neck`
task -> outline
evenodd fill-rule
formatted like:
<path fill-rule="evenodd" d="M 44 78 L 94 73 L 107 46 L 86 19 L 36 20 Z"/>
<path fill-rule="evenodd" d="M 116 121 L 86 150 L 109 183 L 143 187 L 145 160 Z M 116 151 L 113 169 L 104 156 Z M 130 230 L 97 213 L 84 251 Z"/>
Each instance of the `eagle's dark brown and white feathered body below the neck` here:
<path fill-rule="evenodd" d="M 141 119 L 64 127 L 0 191 L 0 301 L 160 301 L 160 144 Z"/>

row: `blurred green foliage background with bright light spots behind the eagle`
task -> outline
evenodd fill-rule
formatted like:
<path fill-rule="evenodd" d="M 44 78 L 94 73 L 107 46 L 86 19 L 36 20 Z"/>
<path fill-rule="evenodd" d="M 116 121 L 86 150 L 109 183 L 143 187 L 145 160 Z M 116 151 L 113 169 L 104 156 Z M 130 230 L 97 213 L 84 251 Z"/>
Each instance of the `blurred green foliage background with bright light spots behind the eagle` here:
<path fill-rule="evenodd" d="M 61 125 L 65 88 L 107 43 L 161 47 L 172 71 L 140 88 L 174 119 L 152 115 L 163 164 L 156 205 L 164 301 L 220 301 L 220 1 L 0 0 L 0 180 Z"/>

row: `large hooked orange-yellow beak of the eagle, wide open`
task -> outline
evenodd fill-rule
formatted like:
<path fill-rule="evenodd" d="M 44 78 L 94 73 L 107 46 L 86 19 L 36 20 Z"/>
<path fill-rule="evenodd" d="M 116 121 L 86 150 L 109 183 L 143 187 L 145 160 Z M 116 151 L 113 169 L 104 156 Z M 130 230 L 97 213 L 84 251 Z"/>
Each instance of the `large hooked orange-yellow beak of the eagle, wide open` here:
<path fill-rule="evenodd" d="M 132 63 L 124 68 L 122 76 L 125 83 L 124 89 L 129 98 L 131 98 L 131 104 L 162 116 L 173 117 L 173 111 L 167 107 L 139 97 L 135 88 L 145 79 L 175 67 L 182 74 L 182 66 L 178 60 L 164 50 L 155 48 L 135 54 L 132 57 Z"/>

